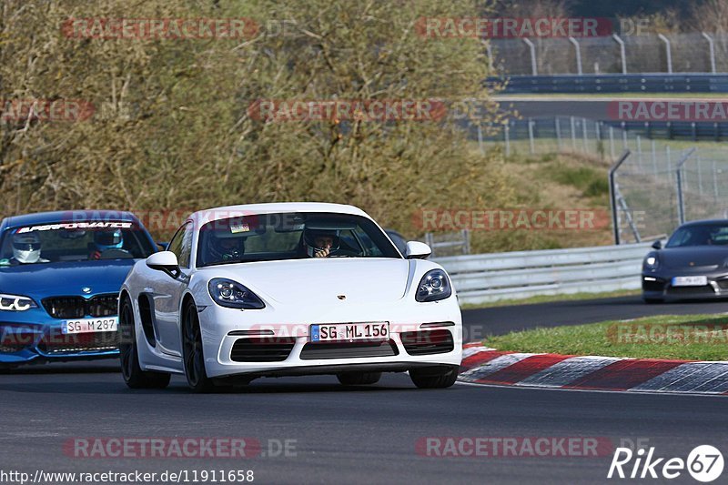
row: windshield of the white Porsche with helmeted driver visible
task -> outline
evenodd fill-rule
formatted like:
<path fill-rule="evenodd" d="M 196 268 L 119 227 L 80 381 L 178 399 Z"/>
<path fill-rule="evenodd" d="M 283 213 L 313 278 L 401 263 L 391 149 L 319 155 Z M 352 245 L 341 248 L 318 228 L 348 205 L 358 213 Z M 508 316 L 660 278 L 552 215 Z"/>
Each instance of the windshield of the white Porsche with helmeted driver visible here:
<path fill-rule="evenodd" d="M 317 246 L 319 244 L 319 246 Z M 302 258 L 401 258 L 367 217 L 276 213 L 233 217 L 200 228 L 197 267 Z"/>

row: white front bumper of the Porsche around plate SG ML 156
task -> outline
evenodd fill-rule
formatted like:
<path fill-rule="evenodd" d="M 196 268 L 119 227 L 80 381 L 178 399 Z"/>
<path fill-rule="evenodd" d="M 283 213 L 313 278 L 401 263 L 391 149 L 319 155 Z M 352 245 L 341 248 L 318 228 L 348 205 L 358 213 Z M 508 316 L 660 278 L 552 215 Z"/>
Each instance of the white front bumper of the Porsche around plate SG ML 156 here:
<path fill-rule="evenodd" d="M 328 308 L 199 311 L 210 378 L 404 371 L 455 367 L 462 359 L 462 321 L 454 296 L 438 302 L 339 304 Z M 313 342 L 313 324 L 389 324 L 387 338 Z M 246 376 L 247 375 L 247 376 Z"/>

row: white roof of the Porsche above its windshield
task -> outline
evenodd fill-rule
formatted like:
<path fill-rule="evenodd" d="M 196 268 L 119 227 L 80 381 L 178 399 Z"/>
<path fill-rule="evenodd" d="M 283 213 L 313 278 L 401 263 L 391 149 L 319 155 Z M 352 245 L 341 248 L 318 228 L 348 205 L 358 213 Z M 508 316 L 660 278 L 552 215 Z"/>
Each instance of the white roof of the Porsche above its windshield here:
<path fill-rule="evenodd" d="M 282 212 L 333 212 L 352 216 L 369 215 L 359 207 L 345 204 L 329 204 L 324 202 L 275 202 L 271 204 L 245 204 L 241 206 L 215 207 L 198 210 L 189 218 L 199 221 L 200 226 L 207 222 L 230 217 L 252 216 L 256 214 L 275 214 Z"/>

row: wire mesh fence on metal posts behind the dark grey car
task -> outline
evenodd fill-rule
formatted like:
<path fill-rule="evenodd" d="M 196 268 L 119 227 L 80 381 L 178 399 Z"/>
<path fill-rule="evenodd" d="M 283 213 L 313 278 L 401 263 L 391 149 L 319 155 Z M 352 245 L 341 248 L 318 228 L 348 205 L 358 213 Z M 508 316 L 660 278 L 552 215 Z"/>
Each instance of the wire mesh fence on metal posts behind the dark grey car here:
<path fill-rule="evenodd" d="M 615 238 L 622 243 L 664 237 L 683 221 L 728 218 L 728 145 L 666 143 L 603 122 L 559 116 L 511 120 L 500 134 L 480 142 L 483 151 L 496 147 L 508 157 L 577 153 L 610 163 L 629 150 L 613 186 Z"/>

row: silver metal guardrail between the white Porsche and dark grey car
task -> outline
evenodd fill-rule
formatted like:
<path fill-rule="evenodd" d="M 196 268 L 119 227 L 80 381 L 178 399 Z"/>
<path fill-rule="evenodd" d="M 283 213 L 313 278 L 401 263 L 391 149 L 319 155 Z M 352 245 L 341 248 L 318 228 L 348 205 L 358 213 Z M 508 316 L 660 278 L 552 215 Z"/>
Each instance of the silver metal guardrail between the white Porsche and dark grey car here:
<path fill-rule="evenodd" d="M 460 304 L 641 288 L 650 244 L 437 258 Z"/>

